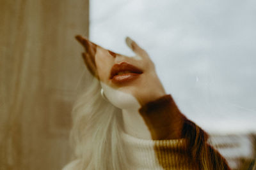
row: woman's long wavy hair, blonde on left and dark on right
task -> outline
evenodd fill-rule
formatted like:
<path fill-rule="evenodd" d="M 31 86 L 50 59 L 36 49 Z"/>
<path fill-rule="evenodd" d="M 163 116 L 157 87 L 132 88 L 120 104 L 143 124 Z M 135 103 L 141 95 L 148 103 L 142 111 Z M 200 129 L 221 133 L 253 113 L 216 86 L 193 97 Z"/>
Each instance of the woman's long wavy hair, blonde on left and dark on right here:
<path fill-rule="evenodd" d="M 76 169 L 127 169 L 120 139 L 122 113 L 102 99 L 100 88 L 99 80 L 93 78 L 72 110 L 70 139 L 79 160 Z M 198 169 L 230 169 L 220 153 L 207 143 L 207 133 L 188 119 L 184 121 L 182 138 L 188 139 L 189 156 Z"/>

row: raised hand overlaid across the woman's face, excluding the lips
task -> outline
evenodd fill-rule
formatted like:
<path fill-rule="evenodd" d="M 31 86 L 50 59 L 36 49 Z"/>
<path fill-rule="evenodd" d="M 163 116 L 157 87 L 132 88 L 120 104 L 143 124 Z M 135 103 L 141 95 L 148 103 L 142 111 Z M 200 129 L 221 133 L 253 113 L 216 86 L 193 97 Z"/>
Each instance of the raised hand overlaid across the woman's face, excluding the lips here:
<path fill-rule="evenodd" d="M 127 45 L 136 54 L 135 57 L 127 57 L 111 52 L 82 36 L 76 36 L 76 39 L 85 48 L 85 52 L 82 53 L 82 55 L 88 70 L 93 76 L 106 83 L 106 85 L 132 94 L 132 96 L 136 97 L 141 106 L 166 94 L 156 74 L 154 63 L 150 60 L 150 57 L 148 57 L 147 52 L 138 46 L 135 41 L 132 41 L 131 38 L 126 38 L 125 40 Z M 129 62 L 129 64 L 143 70 L 143 74 L 140 75 L 140 78 L 131 82 L 132 85 L 115 85 L 109 80 L 111 67 L 116 64 L 116 62 L 120 61 Z"/>

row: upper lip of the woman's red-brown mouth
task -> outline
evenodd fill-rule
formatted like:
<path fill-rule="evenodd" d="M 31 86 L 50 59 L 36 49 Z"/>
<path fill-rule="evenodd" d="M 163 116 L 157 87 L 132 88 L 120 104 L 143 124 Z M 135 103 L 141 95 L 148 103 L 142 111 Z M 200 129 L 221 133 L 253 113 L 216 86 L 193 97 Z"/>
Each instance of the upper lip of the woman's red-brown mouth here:
<path fill-rule="evenodd" d="M 128 62 L 121 62 L 120 64 L 114 64 L 110 71 L 110 78 L 112 79 L 120 71 L 131 71 L 132 73 L 141 74 L 143 71 L 138 67 L 132 66 Z"/>

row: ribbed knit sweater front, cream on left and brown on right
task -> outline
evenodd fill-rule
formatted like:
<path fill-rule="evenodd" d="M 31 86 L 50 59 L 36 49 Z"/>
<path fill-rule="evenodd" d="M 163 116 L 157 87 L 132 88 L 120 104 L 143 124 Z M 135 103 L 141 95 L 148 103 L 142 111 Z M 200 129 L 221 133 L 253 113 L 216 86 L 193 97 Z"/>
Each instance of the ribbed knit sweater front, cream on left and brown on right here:
<path fill-rule="evenodd" d="M 193 169 L 186 139 L 147 140 L 122 133 L 130 169 Z"/>

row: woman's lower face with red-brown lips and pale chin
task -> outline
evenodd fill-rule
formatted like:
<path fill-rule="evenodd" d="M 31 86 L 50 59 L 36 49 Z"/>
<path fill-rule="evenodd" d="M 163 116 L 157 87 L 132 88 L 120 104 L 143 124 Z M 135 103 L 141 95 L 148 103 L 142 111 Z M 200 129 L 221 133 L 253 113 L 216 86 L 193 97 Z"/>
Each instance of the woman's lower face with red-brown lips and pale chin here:
<path fill-rule="evenodd" d="M 148 64 L 140 56 L 126 57 L 97 47 L 95 64 L 102 89 L 108 100 L 118 108 L 140 108 L 136 94 L 147 84 Z"/>

